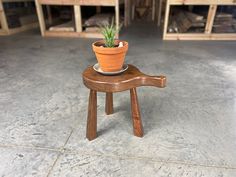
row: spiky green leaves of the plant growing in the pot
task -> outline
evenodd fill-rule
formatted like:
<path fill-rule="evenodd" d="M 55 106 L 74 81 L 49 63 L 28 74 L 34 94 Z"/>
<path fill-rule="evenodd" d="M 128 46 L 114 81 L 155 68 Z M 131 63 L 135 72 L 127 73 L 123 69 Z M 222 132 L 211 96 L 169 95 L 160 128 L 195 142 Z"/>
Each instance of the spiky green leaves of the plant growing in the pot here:
<path fill-rule="evenodd" d="M 111 24 L 101 26 L 100 29 L 102 35 L 104 36 L 105 47 L 115 47 L 115 36 L 119 32 L 120 28 L 116 29 L 116 25 L 114 25 L 114 20 L 112 19 Z"/>

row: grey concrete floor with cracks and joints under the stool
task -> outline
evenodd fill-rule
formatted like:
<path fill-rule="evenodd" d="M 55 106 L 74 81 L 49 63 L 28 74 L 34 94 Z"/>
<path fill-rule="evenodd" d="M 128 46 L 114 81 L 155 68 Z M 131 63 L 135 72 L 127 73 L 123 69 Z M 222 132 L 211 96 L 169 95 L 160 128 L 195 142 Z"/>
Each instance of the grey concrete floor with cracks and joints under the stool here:
<path fill-rule="evenodd" d="M 236 42 L 164 42 L 155 26 L 122 32 L 126 62 L 164 74 L 138 89 L 145 136 L 132 133 L 129 92 L 115 114 L 98 94 L 98 135 L 85 138 L 93 39 L 0 37 L 0 176 L 236 176 Z"/>

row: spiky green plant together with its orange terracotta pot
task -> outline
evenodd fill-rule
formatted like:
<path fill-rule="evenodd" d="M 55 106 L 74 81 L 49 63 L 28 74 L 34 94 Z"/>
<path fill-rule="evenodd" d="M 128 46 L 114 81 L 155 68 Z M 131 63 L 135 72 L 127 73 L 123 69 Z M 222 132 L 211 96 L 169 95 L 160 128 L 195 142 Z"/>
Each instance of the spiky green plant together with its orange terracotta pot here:
<path fill-rule="evenodd" d="M 113 21 L 100 28 L 104 40 L 92 44 L 100 69 L 104 72 L 120 71 L 128 51 L 128 42 L 115 39 L 119 30 L 116 29 Z"/>

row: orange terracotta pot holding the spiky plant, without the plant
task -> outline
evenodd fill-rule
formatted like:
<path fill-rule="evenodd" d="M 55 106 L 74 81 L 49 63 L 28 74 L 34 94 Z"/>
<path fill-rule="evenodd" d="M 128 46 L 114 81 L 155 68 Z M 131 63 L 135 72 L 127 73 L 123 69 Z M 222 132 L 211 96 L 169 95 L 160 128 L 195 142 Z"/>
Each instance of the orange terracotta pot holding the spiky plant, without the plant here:
<path fill-rule="evenodd" d="M 123 47 L 107 48 L 101 47 L 104 41 L 97 41 L 92 44 L 93 51 L 97 57 L 98 63 L 102 71 L 114 72 L 120 71 L 124 64 L 125 55 L 128 51 L 128 42 L 116 40 L 115 44 L 123 43 Z"/>

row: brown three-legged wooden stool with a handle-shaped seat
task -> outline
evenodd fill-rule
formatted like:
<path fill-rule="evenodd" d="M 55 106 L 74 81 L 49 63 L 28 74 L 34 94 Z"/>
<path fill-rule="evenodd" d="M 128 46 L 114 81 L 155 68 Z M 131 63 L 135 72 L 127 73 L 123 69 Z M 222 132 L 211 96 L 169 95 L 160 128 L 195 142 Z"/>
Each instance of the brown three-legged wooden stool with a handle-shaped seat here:
<path fill-rule="evenodd" d="M 106 114 L 113 113 L 113 92 L 130 90 L 134 135 L 143 136 L 142 120 L 139 111 L 136 87 L 155 86 L 163 88 L 166 85 L 165 76 L 148 76 L 133 65 L 120 75 L 105 76 L 88 67 L 83 72 L 84 85 L 90 89 L 87 134 L 89 140 L 97 137 L 97 92 L 106 92 Z"/>

